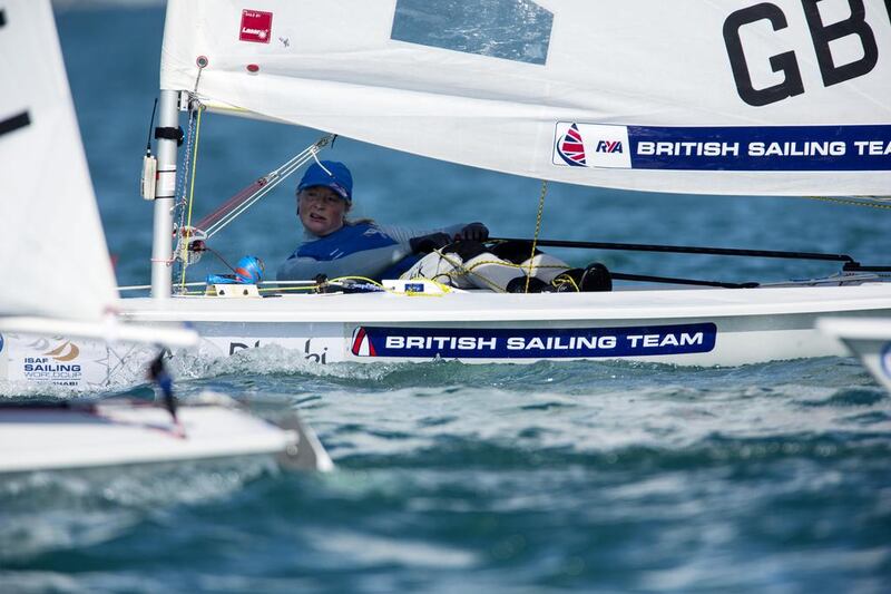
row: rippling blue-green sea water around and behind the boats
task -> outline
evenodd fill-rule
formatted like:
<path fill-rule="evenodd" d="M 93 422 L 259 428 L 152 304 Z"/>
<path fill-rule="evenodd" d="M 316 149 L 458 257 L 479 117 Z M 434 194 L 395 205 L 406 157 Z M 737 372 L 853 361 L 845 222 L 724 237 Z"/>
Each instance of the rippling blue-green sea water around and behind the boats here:
<path fill-rule="evenodd" d="M 147 282 L 139 166 L 163 8 L 58 14 L 123 284 Z M 419 130 L 423 134 L 423 130 Z M 321 133 L 208 115 L 196 211 Z M 346 138 L 360 216 L 486 222 L 530 236 L 540 183 Z M 291 186 L 215 237 L 273 269 L 298 238 Z M 851 253 L 887 263 L 891 214 L 794 198 L 550 184 L 547 238 Z M 575 264 L 723 281 L 793 261 L 557 251 Z M 195 277 L 226 272 L 205 257 Z M 852 359 L 683 369 L 615 362 L 321 366 L 276 348 L 195 361 L 210 389 L 295 407 L 337 469 L 267 461 L 0 481 L 2 592 L 888 592 L 891 399 Z M 146 397 L 146 387 L 128 393 Z M 63 445 L 60 445 L 63 447 Z"/>

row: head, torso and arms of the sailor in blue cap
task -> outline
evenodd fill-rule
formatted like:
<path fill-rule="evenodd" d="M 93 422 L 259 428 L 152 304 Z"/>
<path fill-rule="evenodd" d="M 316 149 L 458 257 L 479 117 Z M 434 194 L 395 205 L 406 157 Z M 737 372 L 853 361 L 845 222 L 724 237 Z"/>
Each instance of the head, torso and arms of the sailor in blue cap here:
<path fill-rule="evenodd" d="M 419 260 L 424 237 L 451 242 L 484 241 L 489 236 L 482 223 L 412 230 L 370 220 L 350 221 L 346 214 L 353 204 L 353 176 L 346 165 L 334 160 L 307 167 L 296 196 L 303 241 L 278 266 L 280 281 L 311 280 L 320 274 L 329 279 L 394 279 Z"/>

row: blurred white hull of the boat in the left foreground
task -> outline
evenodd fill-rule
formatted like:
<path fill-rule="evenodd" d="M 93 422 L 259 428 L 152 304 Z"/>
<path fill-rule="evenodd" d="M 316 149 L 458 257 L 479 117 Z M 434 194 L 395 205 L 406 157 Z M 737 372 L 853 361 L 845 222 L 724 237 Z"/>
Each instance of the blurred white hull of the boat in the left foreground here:
<path fill-rule="evenodd" d="M 316 470 L 333 465 L 311 429 L 278 427 L 232 406 L 182 406 L 179 425 L 148 402 L 0 407 L 0 475 L 276 456 Z"/>

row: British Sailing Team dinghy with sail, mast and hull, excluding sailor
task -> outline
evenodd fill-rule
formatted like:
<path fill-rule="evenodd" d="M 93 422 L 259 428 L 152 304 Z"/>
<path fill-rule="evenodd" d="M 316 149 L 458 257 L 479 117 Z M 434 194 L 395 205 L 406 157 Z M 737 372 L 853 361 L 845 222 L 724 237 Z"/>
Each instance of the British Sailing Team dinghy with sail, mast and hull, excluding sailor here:
<path fill-rule="evenodd" d="M 877 274 L 887 267 L 842 255 L 838 275 L 753 288 L 499 294 L 384 282 L 385 291 L 368 294 L 263 299 L 245 289 L 235 299 L 175 295 L 173 270 L 189 255 L 170 241 L 192 233 L 174 225 L 175 210 L 186 205 L 186 184 L 177 187 L 180 108 L 188 111 L 185 159 L 197 116 L 209 109 L 571 184 L 713 195 L 887 193 L 891 107 L 881 98 L 891 96 L 891 66 L 879 57 L 891 47 L 891 16 L 881 0 L 841 4 L 836 13 L 811 2 L 734 0 L 692 16 L 658 0 L 621 10 L 551 0 L 435 9 L 420 0 L 172 0 L 157 183 L 147 196 L 155 208 L 151 298 L 124 300 L 123 313 L 149 324 L 190 322 L 208 356 L 278 344 L 320 363 L 735 366 L 843 354 L 814 330 L 816 318 L 887 317 L 891 283 Z M 512 11 L 522 35 L 503 38 L 477 22 L 481 6 Z M 438 296 L 421 299 L 430 294 Z M 28 345 L 9 349 L 12 376 Z M 84 381 L 114 381 L 127 357 L 107 354 L 108 366 Z"/>

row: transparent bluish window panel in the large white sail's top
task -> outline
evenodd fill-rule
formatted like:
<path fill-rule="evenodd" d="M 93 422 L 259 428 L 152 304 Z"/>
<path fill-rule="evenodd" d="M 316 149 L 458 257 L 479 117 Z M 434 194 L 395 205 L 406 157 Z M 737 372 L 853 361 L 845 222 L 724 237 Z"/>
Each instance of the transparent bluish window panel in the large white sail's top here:
<path fill-rule="evenodd" d="M 391 39 L 544 65 L 552 25 L 532 0 L 398 0 Z"/>

